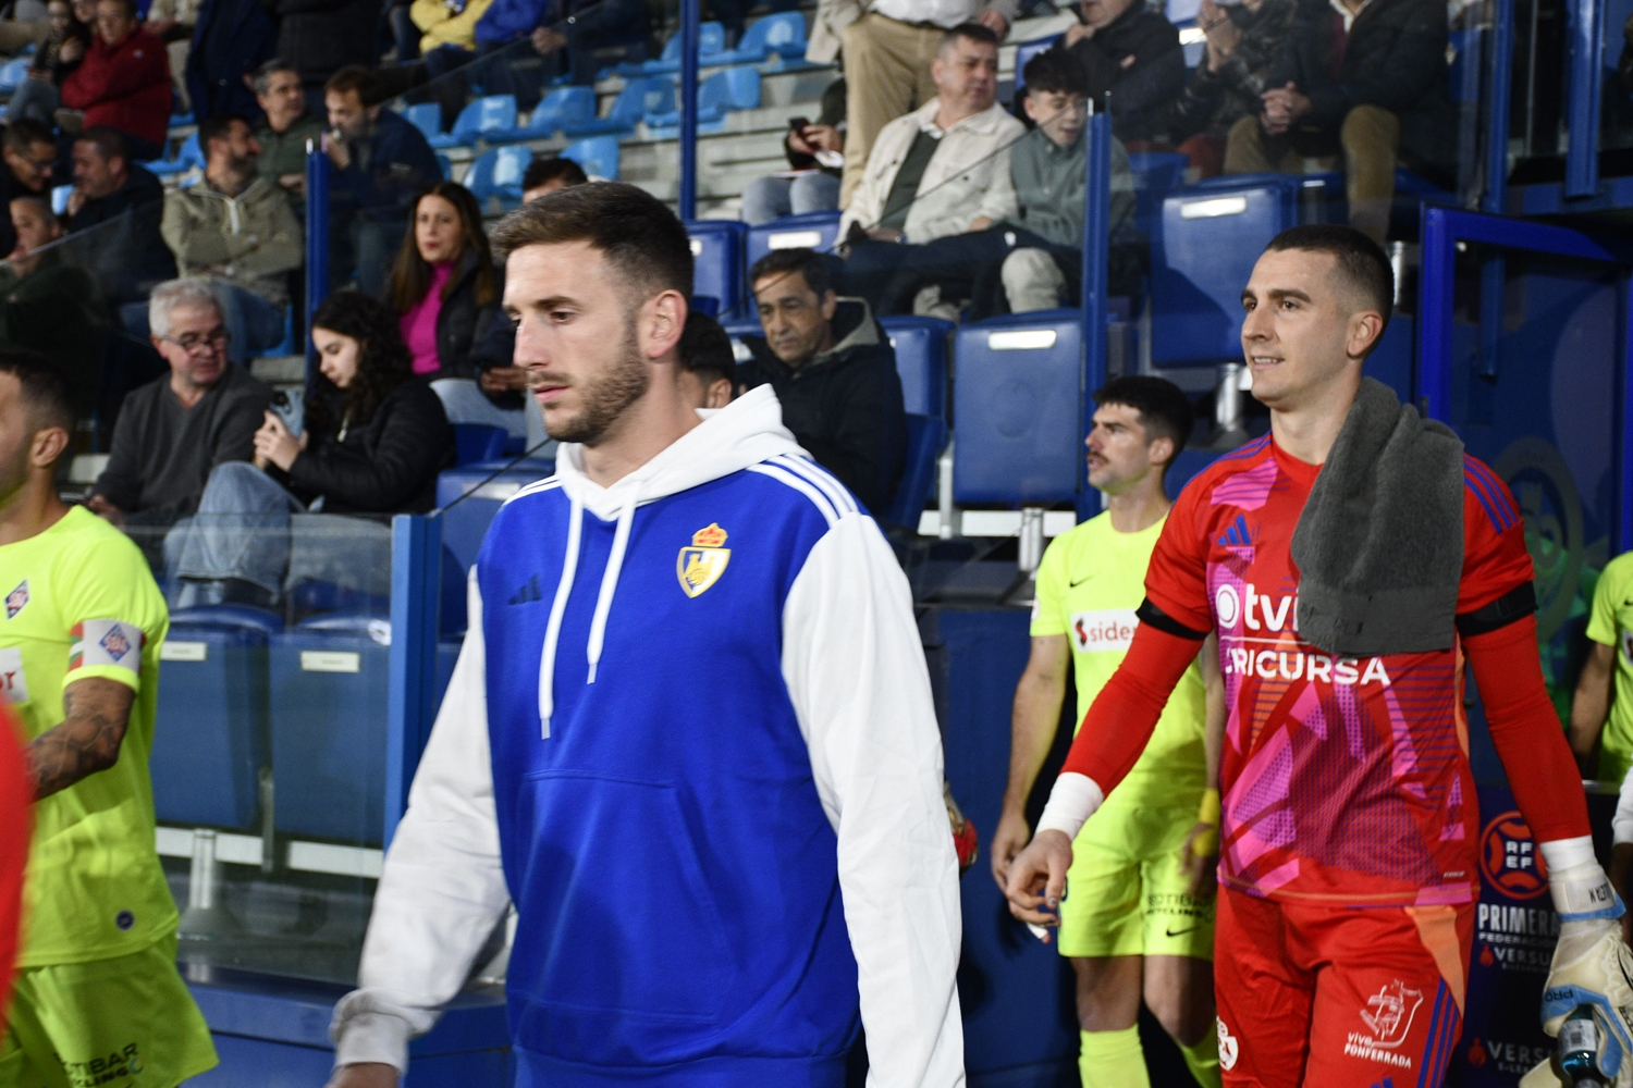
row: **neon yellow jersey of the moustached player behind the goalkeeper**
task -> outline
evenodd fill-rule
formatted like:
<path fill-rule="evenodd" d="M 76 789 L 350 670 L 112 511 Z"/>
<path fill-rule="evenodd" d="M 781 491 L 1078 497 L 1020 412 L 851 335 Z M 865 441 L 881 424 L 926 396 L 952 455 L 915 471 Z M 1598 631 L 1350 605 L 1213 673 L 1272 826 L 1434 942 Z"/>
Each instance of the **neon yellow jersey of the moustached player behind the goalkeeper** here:
<path fill-rule="evenodd" d="M 1071 639 L 1079 728 L 1133 641 L 1138 626 L 1133 613 L 1145 600 L 1145 568 L 1163 520 L 1137 533 L 1120 533 L 1112 529 L 1112 515 L 1101 514 L 1055 537 L 1039 564 L 1032 635 Z M 1195 807 L 1207 786 L 1205 721 L 1202 670 L 1192 662 L 1168 698 L 1145 754 L 1109 803 Z"/>

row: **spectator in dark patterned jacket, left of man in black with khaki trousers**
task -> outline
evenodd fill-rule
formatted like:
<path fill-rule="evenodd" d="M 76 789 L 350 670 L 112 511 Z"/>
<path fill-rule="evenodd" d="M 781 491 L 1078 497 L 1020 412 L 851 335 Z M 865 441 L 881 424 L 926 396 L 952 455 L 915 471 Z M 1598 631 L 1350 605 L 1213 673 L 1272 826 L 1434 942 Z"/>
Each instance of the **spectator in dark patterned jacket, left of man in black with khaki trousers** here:
<path fill-rule="evenodd" d="M 1243 117 L 1257 117 L 1269 88 L 1270 65 L 1287 41 L 1293 0 L 1202 0 L 1197 23 L 1207 33 L 1204 62 L 1169 104 L 1159 129 L 1168 132 L 1200 176 L 1225 168 L 1225 139 Z"/>

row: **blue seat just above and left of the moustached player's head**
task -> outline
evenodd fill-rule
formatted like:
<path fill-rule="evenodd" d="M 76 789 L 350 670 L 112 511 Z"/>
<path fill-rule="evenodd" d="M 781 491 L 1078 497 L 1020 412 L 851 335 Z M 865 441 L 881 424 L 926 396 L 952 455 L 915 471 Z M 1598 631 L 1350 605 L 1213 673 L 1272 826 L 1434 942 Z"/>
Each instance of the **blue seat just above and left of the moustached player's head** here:
<path fill-rule="evenodd" d="M 960 504 L 1078 498 L 1083 313 L 1040 310 L 959 328 L 952 489 Z"/>

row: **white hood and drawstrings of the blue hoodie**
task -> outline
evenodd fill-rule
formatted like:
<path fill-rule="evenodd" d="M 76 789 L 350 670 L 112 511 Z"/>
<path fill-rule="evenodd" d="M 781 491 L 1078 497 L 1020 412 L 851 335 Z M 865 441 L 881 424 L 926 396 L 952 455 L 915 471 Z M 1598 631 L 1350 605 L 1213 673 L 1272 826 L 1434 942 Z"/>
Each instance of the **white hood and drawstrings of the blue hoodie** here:
<path fill-rule="evenodd" d="M 872 325 L 869 321 L 867 325 Z M 585 475 L 585 447 L 563 442 L 555 455 L 555 475 L 570 502 L 567 520 L 567 559 L 562 564 L 562 581 L 550 602 L 550 620 L 544 631 L 544 651 L 539 657 L 539 721 L 544 736 L 550 736 L 550 716 L 555 711 L 555 651 L 562 635 L 562 617 L 578 576 L 578 553 L 583 543 L 585 511 L 604 522 L 616 520 L 612 551 L 601 576 L 601 592 L 596 595 L 594 618 L 590 623 L 590 643 L 585 648 L 590 677 L 596 682 L 596 666 L 601 662 L 601 646 L 606 639 L 607 613 L 617 592 L 624 553 L 629 548 L 629 532 L 635 511 L 647 502 L 656 502 L 671 494 L 687 491 L 710 480 L 730 476 L 750 465 L 772 457 L 795 453 L 807 457 L 794 436 L 782 426 L 782 406 L 769 385 L 761 385 L 736 398 L 725 408 L 699 411 L 704 421 L 671 442 L 661 453 L 629 473 L 611 488 Z"/>

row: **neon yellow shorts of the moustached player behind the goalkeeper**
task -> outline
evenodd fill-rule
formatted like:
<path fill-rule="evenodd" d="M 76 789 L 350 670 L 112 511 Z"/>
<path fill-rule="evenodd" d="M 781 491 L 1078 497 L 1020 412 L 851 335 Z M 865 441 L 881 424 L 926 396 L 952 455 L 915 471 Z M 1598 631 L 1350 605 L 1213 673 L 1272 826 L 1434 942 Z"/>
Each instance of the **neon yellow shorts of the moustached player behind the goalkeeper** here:
<path fill-rule="evenodd" d="M 1195 806 L 1104 806 L 1071 843 L 1060 954 L 1213 959 L 1213 900 L 1186 894 Z"/>

